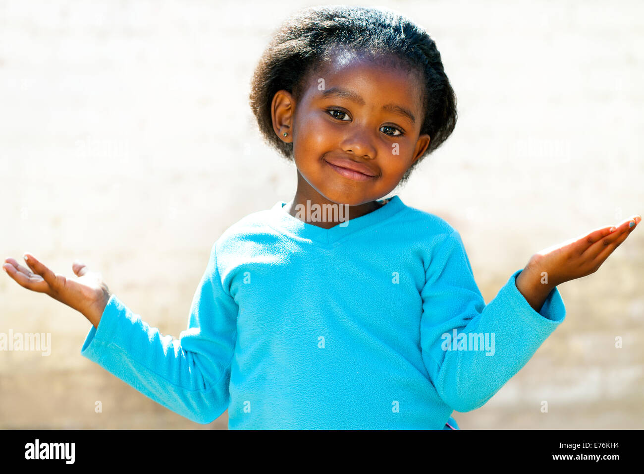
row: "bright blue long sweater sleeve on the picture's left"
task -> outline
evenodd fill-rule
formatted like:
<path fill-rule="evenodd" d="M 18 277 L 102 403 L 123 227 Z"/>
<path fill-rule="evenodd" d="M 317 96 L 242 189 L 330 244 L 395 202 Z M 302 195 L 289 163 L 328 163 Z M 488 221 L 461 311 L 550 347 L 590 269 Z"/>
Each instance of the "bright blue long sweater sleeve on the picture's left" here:
<path fill-rule="evenodd" d="M 169 410 L 207 424 L 229 405 L 238 306 L 222 288 L 213 245 L 191 304 L 187 330 L 175 339 L 151 328 L 111 295 L 81 355 Z"/>

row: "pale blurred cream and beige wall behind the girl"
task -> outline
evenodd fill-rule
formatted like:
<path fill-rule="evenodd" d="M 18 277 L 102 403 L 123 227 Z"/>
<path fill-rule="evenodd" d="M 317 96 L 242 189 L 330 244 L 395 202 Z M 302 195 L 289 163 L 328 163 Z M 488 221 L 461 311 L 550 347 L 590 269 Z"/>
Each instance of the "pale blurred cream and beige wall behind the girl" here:
<path fill-rule="evenodd" d="M 249 81 L 310 5 L 0 0 L 0 257 L 65 275 L 81 259 L 178 337 L 213 242 L 295 191 Z M 386 6 L 436 41 L 459 109 L 392 194 L 459 230 L 486 302 L 538 250 L 644 213 L 643 3 Z M 643 232 L 558 287 L 564 323 L 485 406 L 454 413 L 460 428 L 644 427 Z M 0 332 L 52 346 L 0 351 L 0 428 L 227 428 L 227 413 L 193 423 L 82 357 L 90 326 L 2 274 Z"/>

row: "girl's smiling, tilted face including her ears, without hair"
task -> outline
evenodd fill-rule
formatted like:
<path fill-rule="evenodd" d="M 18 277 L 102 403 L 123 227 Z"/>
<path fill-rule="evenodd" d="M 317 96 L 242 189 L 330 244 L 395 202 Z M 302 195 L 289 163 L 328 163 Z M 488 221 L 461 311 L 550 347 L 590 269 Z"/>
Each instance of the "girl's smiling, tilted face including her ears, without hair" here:
<path fill-rule="evenodd" d="M 272 104 L 276 133 L 293 141 L 298 201 L 359 206 L 380 199 L 430 143 L 420 135 L 417 74 L 336 56 L 319 75 L 309 75 L 303 91 L 297 104 L 285 90 Z"/>

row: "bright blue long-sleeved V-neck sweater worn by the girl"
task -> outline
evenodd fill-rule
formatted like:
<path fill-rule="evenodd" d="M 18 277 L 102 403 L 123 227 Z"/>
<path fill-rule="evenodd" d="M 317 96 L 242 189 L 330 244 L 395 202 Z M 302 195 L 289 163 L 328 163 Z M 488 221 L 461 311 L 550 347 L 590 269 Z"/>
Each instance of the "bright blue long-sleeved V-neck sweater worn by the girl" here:
<path fill-rule="evenodd" d="M 486 305 L 459 233 L 397 195 L 330 229 L 285 204 L 214 242 L 179 339 L 111 295 L 81 354 L 202 424 L 450 429 L 564 321 L 557 288 L 531 308 L 521 270 Z"/>

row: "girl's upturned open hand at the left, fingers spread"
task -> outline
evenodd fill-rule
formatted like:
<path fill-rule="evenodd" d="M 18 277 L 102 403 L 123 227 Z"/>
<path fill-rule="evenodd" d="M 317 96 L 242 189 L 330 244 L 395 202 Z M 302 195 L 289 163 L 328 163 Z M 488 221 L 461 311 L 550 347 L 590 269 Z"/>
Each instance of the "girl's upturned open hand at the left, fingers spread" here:
<path fill-rule="evenodd" d="M 24 254 L 29 268 L 18 264 L 15 259 L 5 259 L 3 270 L 23 288 L 46 293 L 70 308 L 80 311 L 95 328 L 99 327 L 100 317 L 107 306 L 110 293 L 100 273 L 90 272 L 81 262 L 71 266 L 77 278 L 66 278 L 37 261 L 30 253 Z"/>

